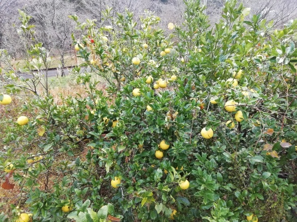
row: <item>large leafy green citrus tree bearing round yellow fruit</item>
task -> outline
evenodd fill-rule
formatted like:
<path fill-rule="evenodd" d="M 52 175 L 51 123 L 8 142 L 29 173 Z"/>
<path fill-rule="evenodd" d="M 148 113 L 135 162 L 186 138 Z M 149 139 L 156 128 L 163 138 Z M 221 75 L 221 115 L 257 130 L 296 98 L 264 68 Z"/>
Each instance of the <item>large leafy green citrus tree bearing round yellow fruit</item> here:
<path fill-rule="evenodd" d="M 210 27 L 199 1 L 185 4 L 168 36 L 150 12 L 137 24 L 107 9 L 113 26 L 99 29 L 71 16 L 87 96 L 39 97 L 28 121 L 9 121 L 0 163 L 23 194 L 14 219 L 293 221 L 297 20 L 274 30 L 228 1 Z"/>

